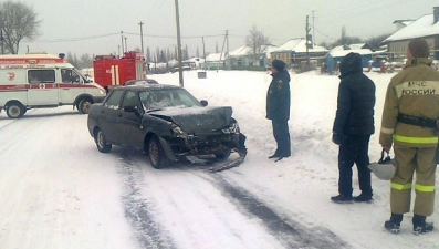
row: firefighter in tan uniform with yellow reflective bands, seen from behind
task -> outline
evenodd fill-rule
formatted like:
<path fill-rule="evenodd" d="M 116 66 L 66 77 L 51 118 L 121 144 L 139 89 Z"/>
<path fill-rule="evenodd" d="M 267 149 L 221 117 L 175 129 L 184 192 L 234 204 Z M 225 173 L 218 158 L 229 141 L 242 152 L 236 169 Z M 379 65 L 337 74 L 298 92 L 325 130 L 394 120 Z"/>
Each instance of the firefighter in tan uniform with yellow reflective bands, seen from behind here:
<path fill-rule="evenodd" d="M 433 229 L 426 217 L 432 215 L 435 206 L 439 71 L 430 66 L 429 53 L 424 39 L 411 40 L 406 66 L 387 87 L 379 143 L 387 152 L 394 144 L 398 167 L 390 185 L 391 216 L 385 222 L 385 228 L 393 232 L 399 232 L 403 215 L 410 211 L 412 189 L 414 232 Z"/>

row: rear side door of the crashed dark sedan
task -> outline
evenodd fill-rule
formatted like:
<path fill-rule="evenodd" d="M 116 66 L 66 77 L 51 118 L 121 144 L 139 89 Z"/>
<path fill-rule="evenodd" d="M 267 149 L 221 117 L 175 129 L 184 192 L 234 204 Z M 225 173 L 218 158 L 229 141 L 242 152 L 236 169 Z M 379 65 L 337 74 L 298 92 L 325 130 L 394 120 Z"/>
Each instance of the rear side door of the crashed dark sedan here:
<path fill-rule="evenodd" d="M 109 143 L 119 144 L 121 131 L 118 127 L 118 115 L 121 113 L 121 102 L 124 92 L 124 90 L 112 91 L 109 96 L 103 103 L 103 108 L 98 114 L 98 126 Z"/>

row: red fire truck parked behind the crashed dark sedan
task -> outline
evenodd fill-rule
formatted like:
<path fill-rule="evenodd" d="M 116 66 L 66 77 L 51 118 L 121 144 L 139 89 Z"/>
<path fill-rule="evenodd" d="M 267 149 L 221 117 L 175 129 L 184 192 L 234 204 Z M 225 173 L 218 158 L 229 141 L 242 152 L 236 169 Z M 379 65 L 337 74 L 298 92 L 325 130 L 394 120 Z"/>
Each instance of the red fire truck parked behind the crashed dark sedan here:
<path fill-rule="evenodd" d="M 112 87 L 124 85 L 129 80 L 146 79 L 145 58 L 143 53 L 129 51 L 123 58 L 115 55 L 96 55 L 93 60 L 94 82 L 107 92 Z"/>

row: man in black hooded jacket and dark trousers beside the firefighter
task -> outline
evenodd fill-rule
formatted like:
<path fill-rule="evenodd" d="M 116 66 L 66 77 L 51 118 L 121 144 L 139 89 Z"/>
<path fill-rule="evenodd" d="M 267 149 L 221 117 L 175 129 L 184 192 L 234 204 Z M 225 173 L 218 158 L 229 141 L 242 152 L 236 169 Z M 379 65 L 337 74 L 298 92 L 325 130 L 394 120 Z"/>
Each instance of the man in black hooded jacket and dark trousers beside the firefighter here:
<path fill-rule="evenodd" d="M 363 73 L 362 56 L 348 53 L 339 65 L 342 80 L 338 86 L 337 111 L 333 127 L 333 142 L 338 151 L 338 194 L 335 203 L 373 201 L 368 147 L 375 132 L 375 84 Z M 353 198 L 352 167 L 358 169 L 362 194 Z"/>

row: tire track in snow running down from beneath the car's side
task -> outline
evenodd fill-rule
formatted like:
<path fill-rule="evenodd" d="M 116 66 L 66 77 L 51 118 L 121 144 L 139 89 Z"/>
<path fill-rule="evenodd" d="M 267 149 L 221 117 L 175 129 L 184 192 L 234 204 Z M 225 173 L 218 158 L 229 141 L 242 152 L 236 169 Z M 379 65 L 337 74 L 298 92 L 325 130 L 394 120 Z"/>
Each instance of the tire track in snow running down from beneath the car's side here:
<path fill-rule="evenodd" d="M 125 215 L 137 232 L 137 239 L 142 248 L 177 248 L 165 235 L 160 234 L 160 226 L 154 221 L 154 215 L 148 200 L 140 195 L 140 172 L 137 166 L 132 165 L 129 151 L 122 152 L 122 175 L 124 176 L 125 190 L 123 204 Z"/>

